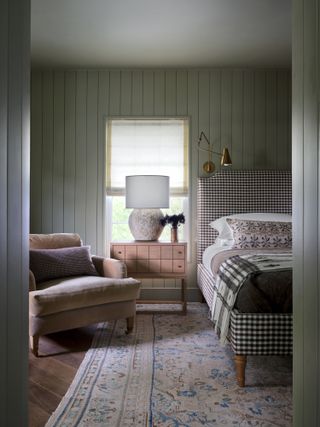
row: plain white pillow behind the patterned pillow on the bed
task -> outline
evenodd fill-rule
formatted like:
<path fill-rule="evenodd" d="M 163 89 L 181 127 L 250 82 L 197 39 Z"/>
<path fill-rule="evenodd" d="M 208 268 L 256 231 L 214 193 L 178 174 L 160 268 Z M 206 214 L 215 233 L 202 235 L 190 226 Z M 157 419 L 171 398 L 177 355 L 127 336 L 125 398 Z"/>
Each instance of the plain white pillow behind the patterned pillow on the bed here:
<path fill-rule="evenodd" d="M 244 213 L 244 214 L 233 214 L 222 216 L 215 221 L 210 222 L 209 226 L 214 228 L 219 233 L 219 238 L 223 240 L 233 240 L 233 231 L 227 223 L 227 218 L 237 219 L 249 219 L 256 221 L 279 221 L 279 222 L 291 222 L 292 216 L 289 214 L 279 213 Z"/>

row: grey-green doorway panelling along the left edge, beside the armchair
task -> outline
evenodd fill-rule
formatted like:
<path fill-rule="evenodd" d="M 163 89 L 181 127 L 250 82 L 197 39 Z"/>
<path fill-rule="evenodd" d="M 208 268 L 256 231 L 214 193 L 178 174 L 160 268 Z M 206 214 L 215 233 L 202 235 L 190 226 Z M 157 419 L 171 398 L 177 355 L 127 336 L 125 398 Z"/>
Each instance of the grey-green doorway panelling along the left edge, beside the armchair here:
<path fill-rule="evenodd" d="M 0 425 L 27 426 L 30 3 L 0 3 Z"/>

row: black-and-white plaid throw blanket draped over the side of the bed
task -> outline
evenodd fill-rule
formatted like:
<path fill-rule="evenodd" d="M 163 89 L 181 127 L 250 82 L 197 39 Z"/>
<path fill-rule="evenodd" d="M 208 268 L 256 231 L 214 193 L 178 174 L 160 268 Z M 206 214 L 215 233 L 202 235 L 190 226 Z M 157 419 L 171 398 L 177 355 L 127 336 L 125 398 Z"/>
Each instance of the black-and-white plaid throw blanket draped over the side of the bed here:
<path fill-rule="evenodd" d="M 291 268 L 290 253 L 236 255 L 221 263 L 214 287 L 211 320 L 222 345 L 227 340 L 231 310 L 247 277 L 258 271 Z"/>

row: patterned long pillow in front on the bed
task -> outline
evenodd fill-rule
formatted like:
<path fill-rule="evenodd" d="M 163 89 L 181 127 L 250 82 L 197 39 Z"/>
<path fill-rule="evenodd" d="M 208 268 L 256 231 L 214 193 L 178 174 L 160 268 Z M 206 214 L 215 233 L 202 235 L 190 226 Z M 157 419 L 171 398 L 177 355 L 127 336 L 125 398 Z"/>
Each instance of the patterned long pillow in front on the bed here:
<path fill-rule="evenodd" d="M 292 224 L 278 221 L 227 219 L 234 248 L 291 248 Z"/>

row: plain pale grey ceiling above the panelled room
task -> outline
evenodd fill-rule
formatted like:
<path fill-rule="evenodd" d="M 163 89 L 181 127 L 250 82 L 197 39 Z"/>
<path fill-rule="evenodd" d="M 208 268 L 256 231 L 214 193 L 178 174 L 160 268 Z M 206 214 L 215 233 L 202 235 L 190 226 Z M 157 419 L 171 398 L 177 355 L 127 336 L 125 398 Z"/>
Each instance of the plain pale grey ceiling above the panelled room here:
<path fill-rule="evenodd" d="M 290 0 L 31 0 L 33 66 L 290 66 Z"/>

